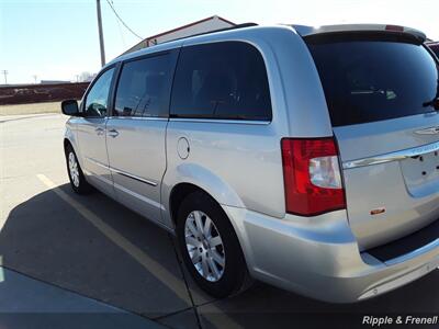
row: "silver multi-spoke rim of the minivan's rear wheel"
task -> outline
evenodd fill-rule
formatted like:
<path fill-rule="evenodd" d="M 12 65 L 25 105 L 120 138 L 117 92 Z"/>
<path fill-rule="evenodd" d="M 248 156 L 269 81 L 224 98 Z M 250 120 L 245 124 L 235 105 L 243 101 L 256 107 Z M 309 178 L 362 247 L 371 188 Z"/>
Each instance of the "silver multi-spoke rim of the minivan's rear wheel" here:
<path fill-rule="evenodd" d="M 184 225 L 185 247 L 193 266 L 210 282 L 218 281 L 225 269 L 223 240 L 215 224 L 206 214 L 194 211 Z"/>

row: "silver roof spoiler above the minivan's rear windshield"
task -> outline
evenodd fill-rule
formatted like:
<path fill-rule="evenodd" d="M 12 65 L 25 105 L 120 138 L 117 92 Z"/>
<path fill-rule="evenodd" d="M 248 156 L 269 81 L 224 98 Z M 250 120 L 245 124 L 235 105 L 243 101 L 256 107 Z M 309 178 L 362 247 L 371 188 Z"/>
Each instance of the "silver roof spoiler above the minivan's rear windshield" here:
<path fill-rule="evenodd" d="M 427 36 L 424 32 L 402 26 L 402 25 L 389 25 L 389 24 L 337 24 L 337 25 L 323 25 L 323 26 L 307 26 L 307 25 L 291 25 L 302 36 L 316 35 L 323 33 L 336 33 L 336 32 L 374 32 L 374 31 L 386 31 L 386 32 L 398 32 L 412 34 L 420 41 L 426 41 Z"/>

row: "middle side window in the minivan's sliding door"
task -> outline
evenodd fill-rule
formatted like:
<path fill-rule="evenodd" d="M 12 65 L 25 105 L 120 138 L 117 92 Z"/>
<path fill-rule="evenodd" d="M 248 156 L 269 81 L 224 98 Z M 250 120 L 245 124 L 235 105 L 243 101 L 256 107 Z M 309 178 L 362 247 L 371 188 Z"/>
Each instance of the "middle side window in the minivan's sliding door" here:
<path fill-rule="evenodd" d="M 125 63 L 117 83 L 114 116 L 166 116 L 171 56 L 159 55 Z"/>

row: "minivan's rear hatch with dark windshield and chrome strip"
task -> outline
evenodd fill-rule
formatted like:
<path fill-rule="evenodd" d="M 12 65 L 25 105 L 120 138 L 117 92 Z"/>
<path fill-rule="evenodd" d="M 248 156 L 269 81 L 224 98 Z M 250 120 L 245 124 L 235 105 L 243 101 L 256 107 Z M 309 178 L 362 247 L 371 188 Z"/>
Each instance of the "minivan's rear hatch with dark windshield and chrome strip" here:
<path fill-rule="evenodd" d="M 395 32 L 304 37 L 338 143 L 349 224 L 362 250 L 439 218 L 438 63 Z"/>

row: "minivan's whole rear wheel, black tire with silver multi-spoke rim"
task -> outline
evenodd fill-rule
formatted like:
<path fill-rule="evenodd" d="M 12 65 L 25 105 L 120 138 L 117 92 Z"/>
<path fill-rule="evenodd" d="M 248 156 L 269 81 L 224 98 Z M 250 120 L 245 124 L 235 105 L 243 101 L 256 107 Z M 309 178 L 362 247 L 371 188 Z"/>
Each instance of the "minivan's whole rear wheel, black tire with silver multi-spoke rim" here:
<path fill-rule="evenodd" d="M 194 192 L 184 198 L 177 235 L 184 264 L 202 290 L 225 297 L 244 286 L 243 251 L 230 222 L 212 197 Z"/>

